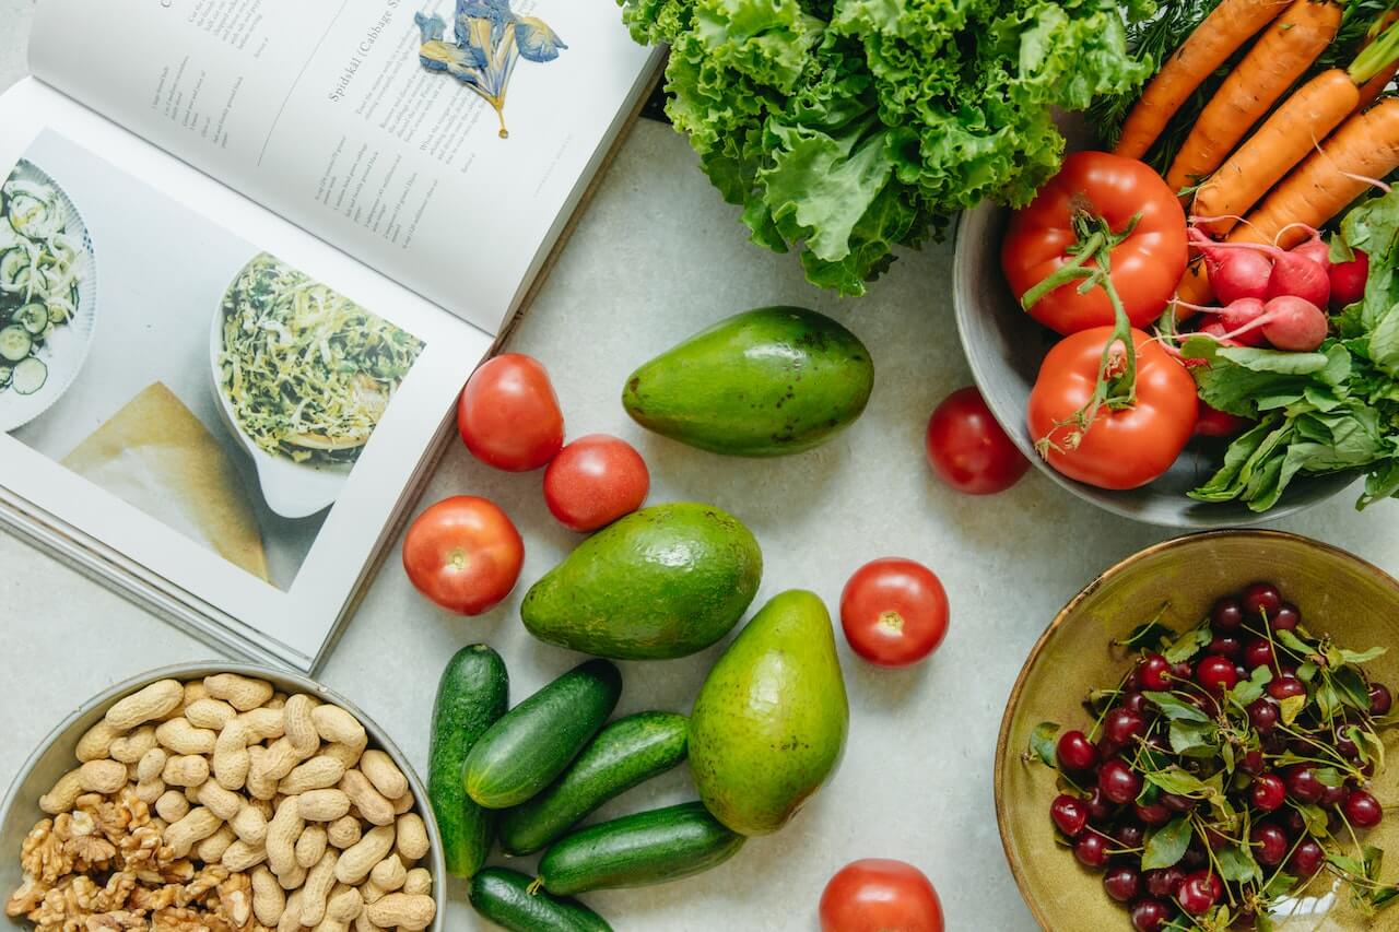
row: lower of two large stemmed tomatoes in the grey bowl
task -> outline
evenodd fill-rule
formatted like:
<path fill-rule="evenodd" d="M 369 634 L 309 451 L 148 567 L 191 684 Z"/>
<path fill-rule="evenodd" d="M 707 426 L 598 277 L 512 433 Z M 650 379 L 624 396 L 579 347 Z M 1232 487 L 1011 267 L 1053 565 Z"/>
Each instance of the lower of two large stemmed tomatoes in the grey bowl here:
<path fill-rule="evenodd" d="M 1045 459 L 1069 479 L 1098 488 L 1136 488 L 1168 470 L 1185 449 L 1199 402 L 1185 367 L 1146 333 L 1132 330 L 1136 404 L 1100 407 L 1081 442 L 1067 449 L 1073 428 L 1063 421 L 1093 399 L 1102 348 L 1112 333 L 1112 327 L 1094 327 L 1049 350 L 1030 392 L 1030 435 L 1055 444 Z"/>

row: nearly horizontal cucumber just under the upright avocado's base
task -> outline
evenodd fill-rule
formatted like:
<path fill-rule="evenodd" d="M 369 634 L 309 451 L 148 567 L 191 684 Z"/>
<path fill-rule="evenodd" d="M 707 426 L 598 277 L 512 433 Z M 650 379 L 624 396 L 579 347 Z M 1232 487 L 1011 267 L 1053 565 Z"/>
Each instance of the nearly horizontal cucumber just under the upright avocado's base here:
<path fill-rule="evenodd" d="M 558 896 L 645 887 L 715 868 L 744 841 L 704 803 L 680 803 L 579 828 L 544 852 L 539 879 Z"/>

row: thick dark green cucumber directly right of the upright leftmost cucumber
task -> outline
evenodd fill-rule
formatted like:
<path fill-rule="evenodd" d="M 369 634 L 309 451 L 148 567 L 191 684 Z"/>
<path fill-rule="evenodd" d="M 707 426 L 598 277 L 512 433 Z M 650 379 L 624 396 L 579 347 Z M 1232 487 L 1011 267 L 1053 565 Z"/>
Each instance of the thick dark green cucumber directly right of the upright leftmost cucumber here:
<path fill-rule="evenodd" d="M 597 733 L 621 696 L 621 673 L 588 661 L 512 708 L 466 756 L 466 792 L 487 809 L 518 806 L 548 786 Z"/>

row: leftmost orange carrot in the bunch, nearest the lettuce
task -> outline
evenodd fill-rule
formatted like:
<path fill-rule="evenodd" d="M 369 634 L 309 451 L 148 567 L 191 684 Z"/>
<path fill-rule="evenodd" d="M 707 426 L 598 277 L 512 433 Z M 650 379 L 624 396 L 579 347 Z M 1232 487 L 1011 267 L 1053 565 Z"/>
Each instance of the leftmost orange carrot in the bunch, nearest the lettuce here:
<path fill-rule="evenodd" d="M 1181 43 L 1122 125 L 1115 151 L 1142 158 L 1191 94 L 1249 38 L 1273 21 L 1286 0 L 1223 0 Z"/>

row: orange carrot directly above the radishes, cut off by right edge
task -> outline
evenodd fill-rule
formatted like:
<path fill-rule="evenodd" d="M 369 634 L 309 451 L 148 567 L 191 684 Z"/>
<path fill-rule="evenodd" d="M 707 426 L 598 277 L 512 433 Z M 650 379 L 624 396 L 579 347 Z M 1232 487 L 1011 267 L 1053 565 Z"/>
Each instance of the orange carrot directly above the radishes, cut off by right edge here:
<path fill-rule="evenodd" d="M 1340 125 L 1228 235 L 1231 242 L 1276 242 L 1290 249 L 1370 188 L 1365 179 L 1399 168 L 1399 97 L 1386 97 Z M 1286 228 L 1286 230 L 1284 230 Z"/>

